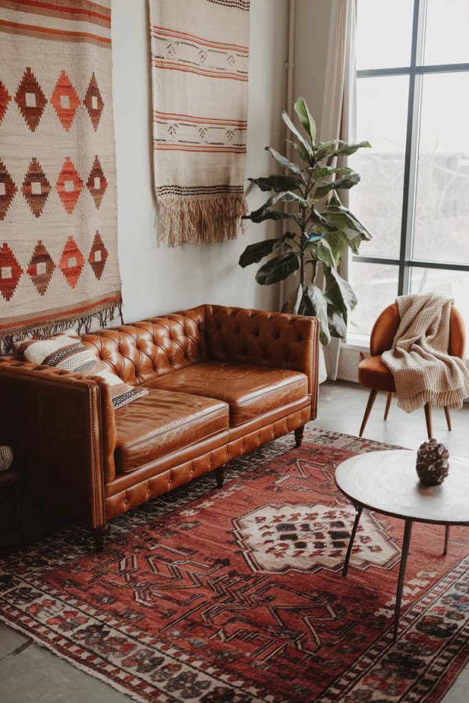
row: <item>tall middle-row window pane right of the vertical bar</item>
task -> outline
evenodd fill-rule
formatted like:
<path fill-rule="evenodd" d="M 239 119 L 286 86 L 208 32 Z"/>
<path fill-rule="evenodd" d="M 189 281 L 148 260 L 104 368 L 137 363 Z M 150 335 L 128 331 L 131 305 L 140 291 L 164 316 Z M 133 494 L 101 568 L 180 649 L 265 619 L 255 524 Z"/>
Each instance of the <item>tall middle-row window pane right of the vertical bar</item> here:
<path fill-rule="evenodd" d="M 469 262 L 468 95 L 469 73 L 423 77 L 416 259 Z"/>

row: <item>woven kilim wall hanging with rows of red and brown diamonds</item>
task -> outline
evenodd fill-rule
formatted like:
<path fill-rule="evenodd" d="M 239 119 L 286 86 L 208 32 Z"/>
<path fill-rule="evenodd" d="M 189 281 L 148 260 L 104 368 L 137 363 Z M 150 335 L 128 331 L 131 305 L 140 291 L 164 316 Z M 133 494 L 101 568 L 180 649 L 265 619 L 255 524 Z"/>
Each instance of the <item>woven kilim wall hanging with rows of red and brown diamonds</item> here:
<path fill-rule="evenodd" d="M 120 308 L 110 0 L 0 0 L 0 338 Z"/>

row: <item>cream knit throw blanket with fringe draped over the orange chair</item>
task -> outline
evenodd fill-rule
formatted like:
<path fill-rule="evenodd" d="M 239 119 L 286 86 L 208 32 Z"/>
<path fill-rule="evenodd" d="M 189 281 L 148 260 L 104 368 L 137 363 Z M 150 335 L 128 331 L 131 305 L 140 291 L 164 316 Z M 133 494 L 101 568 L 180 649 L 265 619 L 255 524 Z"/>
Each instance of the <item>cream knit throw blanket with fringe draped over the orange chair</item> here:
<path fill-rule="evenodd" d="M 469 395 L 469 372 L 447 353 L 452 300 L 423 293 L 396 302 L 401 323 L 381 361 L 394 376 L 399 408 L 408 413 L 425 403 L 461 408 Z"/>

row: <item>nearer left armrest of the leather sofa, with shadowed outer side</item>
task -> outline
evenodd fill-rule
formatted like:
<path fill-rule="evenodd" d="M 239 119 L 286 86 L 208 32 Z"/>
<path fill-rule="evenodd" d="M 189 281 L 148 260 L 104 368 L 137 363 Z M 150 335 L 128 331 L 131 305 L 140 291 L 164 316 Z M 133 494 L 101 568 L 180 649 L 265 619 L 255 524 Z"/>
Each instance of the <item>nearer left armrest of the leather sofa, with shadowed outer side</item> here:
<path fill-rule="evenodd" d="M 102 379 L 0 359 L 0 411 L 1 441 L 41 486 L 51 522 L 105 524 L 115 423 Z"/>

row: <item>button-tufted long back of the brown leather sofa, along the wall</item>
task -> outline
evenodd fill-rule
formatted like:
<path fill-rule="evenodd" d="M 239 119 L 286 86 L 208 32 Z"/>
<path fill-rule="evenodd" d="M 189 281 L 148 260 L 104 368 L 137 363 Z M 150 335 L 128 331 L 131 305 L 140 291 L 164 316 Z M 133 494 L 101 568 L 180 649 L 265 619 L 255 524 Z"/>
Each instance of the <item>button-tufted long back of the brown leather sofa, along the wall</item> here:
<path fill-rule="evenodd" d="M 84 335 L 82 341 L 125 382 L 145 383 L 206 358 L 205 307 Z"/>

